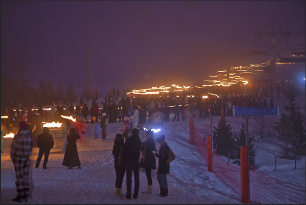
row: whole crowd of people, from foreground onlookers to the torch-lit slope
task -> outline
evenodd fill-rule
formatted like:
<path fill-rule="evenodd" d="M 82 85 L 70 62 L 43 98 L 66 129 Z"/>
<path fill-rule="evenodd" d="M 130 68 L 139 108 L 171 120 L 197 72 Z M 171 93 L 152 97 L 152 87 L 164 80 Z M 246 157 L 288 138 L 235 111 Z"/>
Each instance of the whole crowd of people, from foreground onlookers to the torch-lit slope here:
<path fill-rule="evenodd" d="M 130 95 L 119 100 L 119 90 L 115 96 L 115 90 L 110 90 L 109 97 L 101 101 L 100 105 L 96 100 L 92 100 L 90 107 L 85 101 L 80 101 L 74 107 L 73 104 L 56 105 L 53 102 L 50 106 L 50 113 L 39 106 L 38 109 L 19 106 L 10 106 L 2 109 L 7 115 L 7 119 L 2 119 L 2 144 L 3 136 L 6 133 L 13 132 L 11 146 L 11 159 L 16 171 L 17 196 L 12 199 L 16 202 L 27 201 L 29 193 L 28 173 L 29 173 L 29 155 L 33 147 L 38 147 L 39 155 L 36 161 L 36 168 L 39 168 L 41 159 L 44 155 L 43 169 L 47 169 L 50 150 L 53 148 L 54 140 L 49 133 L 48 128 L 44 128 L 43 122 L 62 122 L 66 125 L 67 137 L 64 143 L 63 166 L 73 169 L 81 167 L 81 162 L 77 151 L 77 140 L 80 139 L 79 124 L 90 122 L 94 124 L 94 138 L 98 137 L 98 128 L 101 128 L 102 139 L 107 137 L 107 125 L 109 123 L 120 122 L 123 124 L 121 133 L 118 133 L 114 140 L 113 156 L 114 168 L 116 172 L 115 194 L 119 197 L 125 196 L 137 199 L 140 189 L 139 172 L 143 168 L 147 177 L 147 190 L 143 193 L 152 193 L 152 169 L 157 168 L 157 181 L 160 187 L 159 196 L 167 196 L 168 187 L 166 174 L 169 173 L 168 158 L 169 147 L 165 142 L 165 136 L 161 135 L 156 140 L 154 133 L 149 130 L 146 132 L 147 139 L 142 142 L 139 137 L 139 128 L 145 123 L 156 124 L 160 127 L 164 122 L 169 122 L 170 113 L 174 113 L 173 122 L 185 121 L 186 111 L 191 111 L 195 116 L 195 109 L 199 110 L 199 118 L 206 118 L 210 114 L 218 116 L 232 114 L 232 105 L 267 107 L 275 106 L 273 98 L 286 97 L 290 88 L 295 87 L 294 83 L 278 83 L 277 87 L 271 86 L 269 81 L 254 80 L 247 86 L 243 83 L 233 87 L 213 87 L 212 89 L 194 89 L 195 97 L 189 94 L 182 95 L 162 95 L 137 96 Z M 274 93 L 276 90 L 276 93 Z M 208 98 L 202 98 L 207 93 L 214 93 Z M 270 98 L 269 104 L 267 98 Z M 81 106 L 80 106 L 81 105 Z M 61 115 L 73 116 L 76 124 L 71 126 L 69 119 L 61 118 Z M 82 129 L 81 129 L 82 130 Z M 84 130 L 82 130 L 83 132 Z M 156 142 L 159 145 L 159 151 L 155 151 Z M 155 157 L 158 160 L 156 167 Z M 132 174 L 134 175 L 134 191 L 132 194 Z M 126 194 L 121 193 L 122 181 L 126 175 Z"/>

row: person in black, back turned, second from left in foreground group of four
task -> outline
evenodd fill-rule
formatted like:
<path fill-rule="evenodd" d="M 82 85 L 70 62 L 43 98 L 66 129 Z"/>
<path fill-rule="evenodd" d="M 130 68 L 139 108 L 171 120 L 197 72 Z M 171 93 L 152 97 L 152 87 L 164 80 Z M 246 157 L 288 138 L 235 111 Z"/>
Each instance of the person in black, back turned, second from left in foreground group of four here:
<path fill-rule="evenodd" d="M 134 128 L 132 130 L 132 136 L 126 139 L 123 148 L 123 160 L 125 161 L 126 168 L 126 194 L 125 198 L 131 199 L 132 191 L 132 172 L 134 173 L 134 193 L 133 198 L 137 199 L 139 192 L 139 157 L 142 142 L 139 138 L 139 130 Z"/>

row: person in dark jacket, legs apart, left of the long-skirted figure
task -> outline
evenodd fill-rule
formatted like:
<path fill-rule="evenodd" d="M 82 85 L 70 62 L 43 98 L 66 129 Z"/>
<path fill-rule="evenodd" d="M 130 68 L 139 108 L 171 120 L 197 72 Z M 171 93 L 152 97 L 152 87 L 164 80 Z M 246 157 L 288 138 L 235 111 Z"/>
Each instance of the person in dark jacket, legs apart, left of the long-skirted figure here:
<path fill-rule="evenodd" d="M 43 133 L 38 135 L 37 146 L 39 148 L 39 154 L 36 160 L 35 168 L 39 167 L 42 157 L 45 154 L 43 169 L 47 169 L 47 163 L 49 159 L 50 150 L 53 148 L 54 140 L 53 136 L 49 133 L 49 128 L 44 127 Z"/>

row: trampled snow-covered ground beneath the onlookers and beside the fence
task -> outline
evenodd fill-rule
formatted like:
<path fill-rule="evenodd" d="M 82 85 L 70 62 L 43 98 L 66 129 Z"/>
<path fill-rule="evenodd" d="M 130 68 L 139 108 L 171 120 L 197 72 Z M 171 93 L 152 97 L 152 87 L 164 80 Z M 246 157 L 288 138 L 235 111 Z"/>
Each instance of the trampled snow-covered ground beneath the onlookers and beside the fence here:
<path fill-rule="evenodd" d="M 304 99 L 304 98 L 303 98 Z M 97 101 L 100 102 L 100 101 Z M 88 103 L 90 104 L 90 103 Z M 304 102 L 300 104 L 304 109 Z M 198 116 L 198 112 L 195 112 Z M 304 112 L 303 112 L 304 114 Z M 93 125 L 85 124 L 85 134 L 78 140 L 78 152 L 83 169 L 72 170 L 62 166 L 64 153 L 62 139 L 66 137 L 63 129 L 50 129 L 55 144 L 51 150 L 48 169 L 43 169 L 43 159 L 39 168 L 35 168 L 38 148 L 33 148 L 30 166 L 30 199 L 28 203 L 241 203 L 241 197 L 224 185 L 212 172 L 207 171 L 207 164 L 202 160 L 194 145 L 189 143 L 189 117 L 187 120 L 173 122 L 174 114 L 170 115 L 170 122 L 164 123 L 160 132 L 165 135 L 169 147 L 176 154 L 176 160 L 171 163 L 170 174 L 167 175 L 169 192 L 167 197 L 158 197 L 159 186 L 156 180 L 156 170 L 152 171 L 153 193 L 142 194 L 146 190 L 147 179 L 145 172 L 140 173 L 140 193 L 138 199 L 124 200 L 115 196 L 115 169 L 112 149 L 114 138 L 123 127 L 123 123 L 110 123 L 107 127 L 107 140 L 94 139 Z M 220 117 L 214 116 L 217 126 Z M 230 116 L 226 118 L 239 132 L 244 116 Z M 194 119 L 195 125 L 209 127 L 210 119 Z M 145 124 L 147 129 L 154 128 L 152 124 Z M 100 128 L 101 129 L 101 128 Z M 99 137 L 101 132 L 99 129 Z M 254 118 L 249 118 L 249 134 L 254 135 Z M 140 129 L 141 140 L 145 140 L 145 131 Z M 305 186 L 305 156 L 299 157 L 294 169 L 294 160 L 278 158 L 277 171 L 275 168 L 275 153 L 281 143 L 275 136 L 265 142 L 254 140 L 259 149 L 256 155 L 256 167 L 281 181 Z M 1 154 L 1 203 L 15 203 L 11 199 L 16 196 L 15 171 L 10 160 L 10 145 L 12 138 L 5 138 L 4 153 Z M 157 148 L 158 149 L 158 148 Z M 158 159 L 157 159 L 158 160 Z M 124 178 L 122 193 L 126 193 Z M 132 191 L 133 191 L 132 184 Z"/>

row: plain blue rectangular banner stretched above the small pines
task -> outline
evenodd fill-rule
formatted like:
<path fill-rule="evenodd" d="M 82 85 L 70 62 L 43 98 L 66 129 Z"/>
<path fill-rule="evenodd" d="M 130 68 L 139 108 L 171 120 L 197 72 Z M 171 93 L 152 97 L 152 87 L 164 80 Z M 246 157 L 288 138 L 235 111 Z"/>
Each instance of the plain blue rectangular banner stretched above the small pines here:
<path fill-rule="evenodd" d="M 279 106 L 273 107 L 241 107 L 233 105 L 234 115 L 279 115 Z"/>

